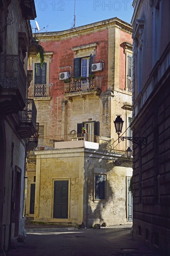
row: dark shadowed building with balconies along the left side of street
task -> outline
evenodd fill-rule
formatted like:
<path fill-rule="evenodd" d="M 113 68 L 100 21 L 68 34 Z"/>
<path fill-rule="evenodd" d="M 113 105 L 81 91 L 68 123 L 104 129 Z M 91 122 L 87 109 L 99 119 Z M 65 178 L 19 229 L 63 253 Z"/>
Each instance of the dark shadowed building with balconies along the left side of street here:
<path fill-rule="evenodd" d="M 26 156 L 38 143 L 37 110 L 27 97 L 35 17 L 33 0 L 0 1 L 0 251 L 23 239 Z"/>

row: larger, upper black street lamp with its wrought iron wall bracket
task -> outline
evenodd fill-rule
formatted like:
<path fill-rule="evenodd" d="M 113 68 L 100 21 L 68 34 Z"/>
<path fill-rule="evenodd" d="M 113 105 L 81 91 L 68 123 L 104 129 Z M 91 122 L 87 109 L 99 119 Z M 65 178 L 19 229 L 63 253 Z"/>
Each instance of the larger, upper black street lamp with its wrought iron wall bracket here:
<path fill-rule="evenodd" d="M 122 132 L 122 127 L 123 127 L 124 121 L 121 119 L 120 115 L 117 115 L 115 121 L 114 121 L 114 126 L 116 129 L 116 133 L 119 136 L 119 142 L 124 141 L 124 140 L 129 140 L 132 141 L 133 143 L 140 144 L 140 145 L 145 145 L 146 144 L 146 138 L 145 137 L 120 137 L 120 133 Z"/>

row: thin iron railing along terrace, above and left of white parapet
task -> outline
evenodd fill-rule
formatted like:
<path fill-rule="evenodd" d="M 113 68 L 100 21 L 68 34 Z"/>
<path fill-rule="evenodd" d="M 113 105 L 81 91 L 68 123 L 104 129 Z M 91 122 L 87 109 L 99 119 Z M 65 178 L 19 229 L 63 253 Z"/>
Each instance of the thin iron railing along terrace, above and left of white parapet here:
<path fill-rule="evenodd" d="M 46 136 L 38 138 L 38 149 L 54 149 L 55 142 L 64 142 L 64 141 L 91 141 L 99 143 L 99 135 L 91 134 L 67 134 L 67 135 L 55 135 L 55 136 Z"/>

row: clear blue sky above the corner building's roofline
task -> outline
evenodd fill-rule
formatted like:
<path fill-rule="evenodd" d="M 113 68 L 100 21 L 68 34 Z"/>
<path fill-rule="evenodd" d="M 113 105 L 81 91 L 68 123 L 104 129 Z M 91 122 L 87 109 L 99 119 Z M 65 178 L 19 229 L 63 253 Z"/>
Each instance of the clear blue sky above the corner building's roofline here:
<path fill-rule="evenodd" d="M 74 24 L 74 0 L 34 0 L 41 32 L 70 29 Z M 118 17 L 132 19 L 132 0 L 76 0 L 76 27 Z M 35 21 L 31 21 L 35 32 Z"/>

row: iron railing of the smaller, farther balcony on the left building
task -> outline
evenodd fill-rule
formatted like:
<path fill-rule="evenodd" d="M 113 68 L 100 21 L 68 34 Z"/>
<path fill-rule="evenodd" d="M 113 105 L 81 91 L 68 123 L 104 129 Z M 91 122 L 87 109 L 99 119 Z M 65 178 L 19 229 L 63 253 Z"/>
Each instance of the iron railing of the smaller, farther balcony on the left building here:
<path fill-rule="evenodd" d="M 26 99 L 25 108 L 21 111 L 21 122 L 31 123 L 36 131 L 37 108 L 33 99 Z"/>

